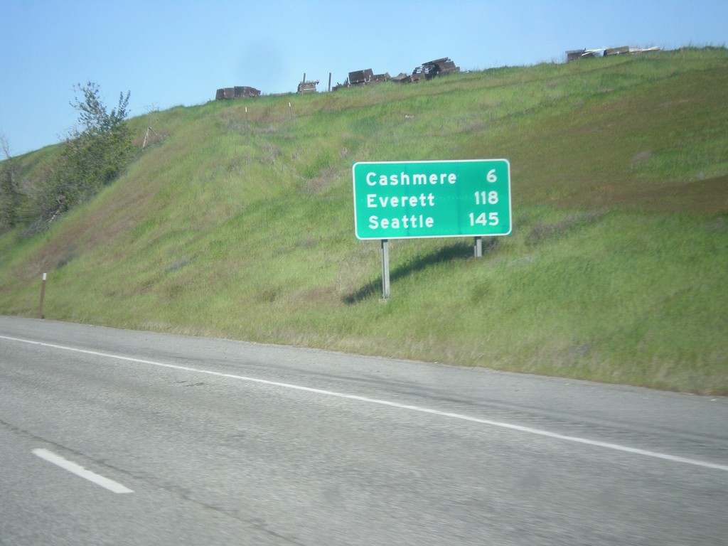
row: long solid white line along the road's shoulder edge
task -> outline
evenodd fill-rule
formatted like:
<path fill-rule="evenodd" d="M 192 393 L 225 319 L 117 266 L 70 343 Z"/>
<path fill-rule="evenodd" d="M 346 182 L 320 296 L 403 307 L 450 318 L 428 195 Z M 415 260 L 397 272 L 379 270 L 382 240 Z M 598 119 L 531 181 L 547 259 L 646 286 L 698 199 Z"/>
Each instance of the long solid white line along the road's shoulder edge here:
<path fill-rule="evenodd" d="M 64 351 L 79 352 L 84 355 L 93 355 L 93 356 L 98 356 L 98 357 L 114 358 L 116 360 L 124 360 L 127 362 L 134 362 L 134 363 L 139 363 L 139 364 L 149 364 L 149 365 L 159 366 L 162 368 L 172 368 L 173 370 L 189 371 L 189 372 L 194 372 L 194 373 L 205 373 L 209 376 L 225 377 L 228 379 L 237 379 L 238 381 L 248 381 L 251 383 L 270 385 L 272 387 L 282 387 L 285 389 L 294 389 L 294 390 L 299 390 L 299 391 L 304 391 L 304 392 L 312 392 L 317 395 L 333 396 L 333 397 L 338 397 L 338 398 L 345 398 L 347 400 L 357 400 L 359 402 L 365 402 L 365 403 L 370 403 L 370 404 L 387 405 L 392 408 L 400 408 L 400 409 L 405 409 L 405 410 L 409 410 L 409 411 L 418 411 L 419 413 L 422 413 L 422 414 L 438 415 L 438 416 L 448 417 L 450 419 L 459 419 L 461 421 L 486 424 L 491 427 L 499 427 L 499 428 L 507 429 L 507 430 L 516 430 L 518 432 L 525 432 L 526 434 L 544 436 L 546 438 L 553 438 L 555 440 L 562 440 L 562 441 L 573 442 L 573 443 L 581 443 L 586 446 L 594 446 L 594 447 L 598 447 L 598 448 L 611 449 L 613 451 L 622 451 L 622 453 L 629 453 L 629 454 L 633 454 L 633 455 L 652 457 L 654 459 L 662 459 L 665 461 L 676 462 L 676 463 L 681 463 L 681 464 L 691 464 L 692 466 L 695 466 L 695 467 L 703 467 L 703 468 L 709 468 L 711 470 L 722 470 L 724 472 L 728 472 L 727 464 L 716 464 L 716 463 L 712 463 L 712 462 L 700 461 L 698 459 L 689 459 L 687 457 L 663 454 L 663 453 L 659 453 L 657 451 L 649 451 L 649 450 L 640 449 L 640 448 L 630 448 L 629 446 L 621 446 L 620 444 L 617 444 L 617 443 L 601 442 L 599 440 L 589 440 L 587 438 L 579 438 L 577 436 L 567 436 L 567 435 L 563 435 L 563 434 L 558 434 L 557 432 L 549 432 L 548 430 L 534 429 L 531 427 L 523 427 L 519 424 L 491 421 L 490 419 L 480 419 L 479 417 L 472 417 L 472 416 L 467 416 L 467 415 L 463 415 L 463 414 L 454 414 L 449 411 L 440 411 L 440 410 L 436 410 L 436 409 L 432 409 L 432 408 L 424 408 L 419 405 L 400 404 L 397 402 L 390 402 L 389 400 L 380 400 L 378 398 L 369 398 L 369 397 L 358 396 L 358 395 L 347 395 L 343 392 L 335 392 L 335 391 L 329 391 L 329 390 L 324 390 L 324 389 L 314 389 L 312 387 L 303 387 L 301 385 L 280 383 L 278 381 L 268 381 L 266 379 L 257 379 L 255 377 L 237 376 L 237 375 L 233 375 L 232 373 L 220 373 L 217 371 L 202 370 L 199 368 L 189 368 L 189 366 L 181 366 L 181 365 L 176 365 L 176 364 L 165 364 L 165 363 L 161 363 L 161 362 L 155 362 L 154 360 L 142 360 L 140 358 L 124 357 L 122 355 L 112 355 L 112 354 L 106 353 L 106 352 L 89 351 L 87 349 L 76 349 L 75 347 L 65 347 L 63 345 L 42 343 L 41 341 L 31 341 L 29 339 L 19 339 L 19 338 L 7 337 L 7 336 L 0 336 L 0 339 L 7 339 L 9 341 L 20 341 L 21 343 L 27 343 L 27 344 L 31 344 L 31 345 L 40 345 L 41 347 L 51 347 L 53 349 L 62 349 Z"/>

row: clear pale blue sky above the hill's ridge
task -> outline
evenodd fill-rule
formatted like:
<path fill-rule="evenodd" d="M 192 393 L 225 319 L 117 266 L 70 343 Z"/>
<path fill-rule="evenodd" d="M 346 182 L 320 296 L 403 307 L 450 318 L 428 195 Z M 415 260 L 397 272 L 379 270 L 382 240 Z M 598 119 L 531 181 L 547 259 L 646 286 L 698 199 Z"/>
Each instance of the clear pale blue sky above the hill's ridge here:
<path fill-rule="evenodd" d="M 0 0 L 0 133 L 12 155 L 63 140 L 74 84 L 131 116 L 213 100 L 218 87 L 318 89 L 349 71 L 564 62 L 566 50 L 728 44 L 728 0 Z M 2 159 L 0 157 L 0 159 Z"/>

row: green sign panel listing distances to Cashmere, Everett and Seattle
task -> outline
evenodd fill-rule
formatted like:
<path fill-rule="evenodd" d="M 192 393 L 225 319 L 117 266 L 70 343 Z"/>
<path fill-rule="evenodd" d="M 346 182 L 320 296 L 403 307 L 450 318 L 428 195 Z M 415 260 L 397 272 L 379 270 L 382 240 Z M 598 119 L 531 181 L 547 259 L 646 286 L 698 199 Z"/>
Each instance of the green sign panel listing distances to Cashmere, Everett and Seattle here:
<path fill-rule="evenodd" d="M 357 162 L 357 239 L 507 235 L 507 159 Z"/>

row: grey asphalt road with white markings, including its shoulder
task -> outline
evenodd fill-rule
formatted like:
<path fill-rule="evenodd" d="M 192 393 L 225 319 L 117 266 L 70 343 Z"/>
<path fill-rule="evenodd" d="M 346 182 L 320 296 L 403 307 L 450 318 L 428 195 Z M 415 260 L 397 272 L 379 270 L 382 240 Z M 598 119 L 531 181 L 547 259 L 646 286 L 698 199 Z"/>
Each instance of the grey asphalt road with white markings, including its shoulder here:
<path fill-rule="evenodd" d="M 728 399 L 0 317 L 0 545 L 727 545 Z"/>

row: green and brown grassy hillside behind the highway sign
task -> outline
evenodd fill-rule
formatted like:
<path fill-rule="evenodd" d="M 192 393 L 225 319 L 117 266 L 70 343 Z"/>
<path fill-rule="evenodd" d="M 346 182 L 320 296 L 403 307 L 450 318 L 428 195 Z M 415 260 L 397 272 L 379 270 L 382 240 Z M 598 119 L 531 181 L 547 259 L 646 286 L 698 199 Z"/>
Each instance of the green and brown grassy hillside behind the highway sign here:
<path fill-rule="evenodd" d="M 727 90 L 708 48 L 154 112 L 117 183 L 0 238 L 0 313 L 47 272 L 52 319 L 726 395 Z M 381 301 L 352 162 L 491 157 L 513 234 L 392 241 Z"/>

